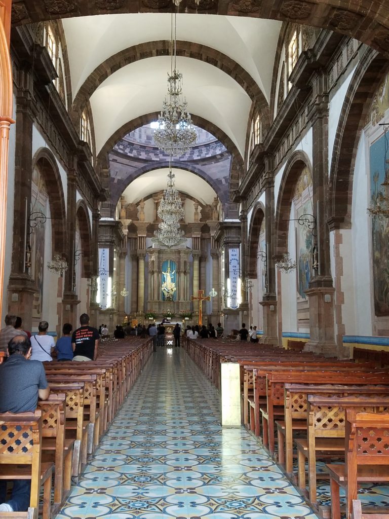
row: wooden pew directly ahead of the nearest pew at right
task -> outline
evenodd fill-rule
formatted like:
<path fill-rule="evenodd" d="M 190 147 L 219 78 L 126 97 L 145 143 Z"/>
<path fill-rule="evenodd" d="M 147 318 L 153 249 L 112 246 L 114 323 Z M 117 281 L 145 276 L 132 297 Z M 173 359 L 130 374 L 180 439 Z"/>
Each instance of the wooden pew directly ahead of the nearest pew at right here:
<path fill-rule="evenodd" d="M 389 397 L 347 397 L 308 396 L 308 436 L 296 440 L 298 451 L 299 488 L 305 489 L 305 459 L 308 459 L 309 499 L 316 503 L 316 459 L 330 456 L 344 457 L 345 408 L 374 412 L 389 406 Z"/>

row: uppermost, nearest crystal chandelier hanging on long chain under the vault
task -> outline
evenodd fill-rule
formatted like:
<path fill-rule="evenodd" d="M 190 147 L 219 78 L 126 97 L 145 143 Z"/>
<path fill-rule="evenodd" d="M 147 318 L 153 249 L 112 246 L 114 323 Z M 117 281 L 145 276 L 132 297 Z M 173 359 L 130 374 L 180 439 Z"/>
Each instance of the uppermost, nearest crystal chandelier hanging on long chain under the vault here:
<path fill-rule="evenodd" d="M 183 75 L 176 69 L 176 13 L 173 15 L 171 36 L 171 72 L 168 73 L 168 95 L 158 117 L 158 128 L 154 132 L 154 142 L 168 155 L 178 157 L 187 153 L 196 143 L 197 133 L 188 112 L 188 103 L 183 98 Z"/>

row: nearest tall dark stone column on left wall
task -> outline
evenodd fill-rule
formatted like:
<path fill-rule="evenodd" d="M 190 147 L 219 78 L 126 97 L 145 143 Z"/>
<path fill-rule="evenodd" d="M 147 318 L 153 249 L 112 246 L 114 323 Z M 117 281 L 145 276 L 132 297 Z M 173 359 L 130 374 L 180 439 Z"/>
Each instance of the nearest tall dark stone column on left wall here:
<path fill-rule="evenodd" d="M 30 73 L 20 71 L 18 82 L 23 85 L 16 96 L 16 153 L 15 182 L 13 195 L 13 240 L 12 264 L 8 283 L 8 311 L 21 316 L 26 330 L 32 328 L 31 308 L 34 299 L 34 283 L 29 265 L 26 264 L 26 249 L 30 244 L 29 217 L 31 210 L 32 181 L 32 131 L 34 121 L 33 80 Z M 5 126 L 9 124 L 5 122 Z M 5 130 L 7 128 L 5 127 Z M 2 121 L 1 128 L 4 128 Z M 3 142 L 2 142 L 3 144 Z M 8 146 L 8 135 L 7 135 Z M 7 200 L 7 194 L 2 200 Z M 4 219 L 3 219 L 4 218 Z M 5 222 L 6 214 L 1 221 Z M 5 248 L 2 247 L 4 251 Z M 3 276 L 4 268 L 1 269 Z"/>

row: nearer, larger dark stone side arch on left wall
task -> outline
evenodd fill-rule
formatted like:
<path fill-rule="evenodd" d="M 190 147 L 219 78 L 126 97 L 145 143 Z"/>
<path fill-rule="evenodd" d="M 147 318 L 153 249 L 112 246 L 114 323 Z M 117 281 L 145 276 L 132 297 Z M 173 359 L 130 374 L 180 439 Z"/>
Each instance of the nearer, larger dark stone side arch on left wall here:
<path fill-rule="evenodd" d="M 51 215 L 51 249 L 64 254 L 66 250 L 66 206 L 61 174 L 54 155 L 48 148 L 40 148 L 35 153 L 32 168 L 39 167 L 47 187 Z M 66 258 L 68 260 L 68 258 Z"/>

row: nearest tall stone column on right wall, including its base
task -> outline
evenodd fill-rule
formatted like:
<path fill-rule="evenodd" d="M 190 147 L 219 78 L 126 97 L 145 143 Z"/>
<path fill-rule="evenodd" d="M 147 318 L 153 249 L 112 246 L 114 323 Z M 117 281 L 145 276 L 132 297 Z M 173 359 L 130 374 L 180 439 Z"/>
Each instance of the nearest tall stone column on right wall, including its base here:
<path fill-rule="evenodd" d="M 312 79 L 312 104 L 308 118 L 312 124 L 312 183 L 313 215 L 316 218 L 313 255 L 313 278 L 309 290 L 310 340 L 305 349 L 328 357 L 338 354 L 334 325 L 334 288 L 331 277 L 329 227 L 326 200 L 328 198 L 328 76 L 319 70 Z M 317 260 L 317 261 L 316 261 Z"/>

